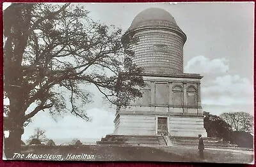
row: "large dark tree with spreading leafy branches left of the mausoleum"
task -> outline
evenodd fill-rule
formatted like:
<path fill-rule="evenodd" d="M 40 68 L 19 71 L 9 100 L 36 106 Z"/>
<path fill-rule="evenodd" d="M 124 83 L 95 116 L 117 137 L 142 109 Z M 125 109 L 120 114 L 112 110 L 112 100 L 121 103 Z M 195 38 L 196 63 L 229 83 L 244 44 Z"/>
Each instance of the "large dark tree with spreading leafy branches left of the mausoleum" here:
<path fill-rule="evenodd" d="M 85 85 L 95 85 L 118 108 L 142 96 L 142 69 L 132 64 L 129 50 L 136 38 L 122 38 L 121 29 L 93 22 L 83 6 L 14 3 L 3 18 L 9 156 L 20 149 L 24 123 L 42 110 L 67 112 L 68 102 L 71 113 L 88 120 Z"/>

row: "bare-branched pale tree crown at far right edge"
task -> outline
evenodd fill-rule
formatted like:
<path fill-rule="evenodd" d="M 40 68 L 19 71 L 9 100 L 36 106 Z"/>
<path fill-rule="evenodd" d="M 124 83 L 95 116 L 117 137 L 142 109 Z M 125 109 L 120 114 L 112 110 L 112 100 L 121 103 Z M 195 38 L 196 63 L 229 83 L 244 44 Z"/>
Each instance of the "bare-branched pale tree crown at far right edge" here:
<path fill-rule="evenodd" d="M 221 119 L 225 120 L 234 131 L 253 133 L 253 116 L 246 112 L 221 113 Z"/>

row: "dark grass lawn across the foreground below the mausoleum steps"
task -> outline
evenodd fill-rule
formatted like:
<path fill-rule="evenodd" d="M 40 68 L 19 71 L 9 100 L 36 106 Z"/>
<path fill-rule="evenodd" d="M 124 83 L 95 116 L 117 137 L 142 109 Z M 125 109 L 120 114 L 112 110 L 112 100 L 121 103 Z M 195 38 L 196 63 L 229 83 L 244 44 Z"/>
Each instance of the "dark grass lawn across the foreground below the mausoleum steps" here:
<path fill-rule="evenodd" d="M 248 153 L 248 152 L 247 152 Z M 169 161 L 207 163 L 251 163 L 252 154 L 205 149 L 205 159 L 198 158 L 196 148 L 143 147 L 127 145 L 33 145 L 24 146 L 22 159 L 58 161 Z M 55 157 L 54 157 L 55 155 Z M 60 155 L 60 156 L 56 156 Z M 41 157 L 40 157 L 41 156 Z M 14 157 L 20 159 L 19 157 Z"/>

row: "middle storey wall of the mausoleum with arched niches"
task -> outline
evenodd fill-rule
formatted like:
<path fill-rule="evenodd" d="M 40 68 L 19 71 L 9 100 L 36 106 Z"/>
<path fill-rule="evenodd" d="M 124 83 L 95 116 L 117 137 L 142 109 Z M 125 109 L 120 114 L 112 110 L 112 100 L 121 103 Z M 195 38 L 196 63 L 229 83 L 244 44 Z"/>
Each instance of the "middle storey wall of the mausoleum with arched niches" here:
<path fill-rule="evenodd" d="M 202 116 L 200 78 L 145 77 L 143 97 L 131 106 L 150 106 L 150 110 L 166 107 L 173 115 Z M 152 109 L 152 107 L 155 107 Z M 142 110 L 141 108 L 141 110 Z M 129 110 L 126 108 L 125 110 Z M 147 109 L 148 110 L 148 109 Z M 150 112 L 148 110 L 148 112 Z"/>

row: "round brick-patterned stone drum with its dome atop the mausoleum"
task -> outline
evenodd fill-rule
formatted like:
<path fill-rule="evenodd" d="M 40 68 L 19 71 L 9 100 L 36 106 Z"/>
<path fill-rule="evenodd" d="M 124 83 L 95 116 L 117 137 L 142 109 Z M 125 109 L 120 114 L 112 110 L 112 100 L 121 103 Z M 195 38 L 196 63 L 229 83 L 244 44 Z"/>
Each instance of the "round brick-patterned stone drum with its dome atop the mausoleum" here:
<path fill-rule="evenodd" d="M 183 46 L 186 34 L 167 11 L 149 8 L 132 21 L 124 36 L 134 34 L 138 43 L 132 45 L 134 63 L 145 73 L 183 73 Z"/>

